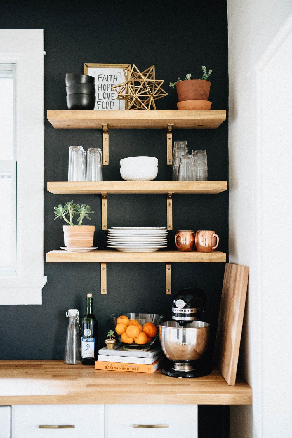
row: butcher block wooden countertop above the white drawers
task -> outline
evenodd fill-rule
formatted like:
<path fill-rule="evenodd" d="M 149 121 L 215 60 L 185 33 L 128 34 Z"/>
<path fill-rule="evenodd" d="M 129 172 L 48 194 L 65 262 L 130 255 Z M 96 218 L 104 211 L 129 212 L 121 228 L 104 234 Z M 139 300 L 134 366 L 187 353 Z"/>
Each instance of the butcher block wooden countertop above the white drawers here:
<path fill-rule="evenodd" d="M 243 380 L 227 385 L 218 370 L 200 378 L 100 371 L 62 360 L 1 360 L 0 405 L 38 404 L 250 405 Z"/>

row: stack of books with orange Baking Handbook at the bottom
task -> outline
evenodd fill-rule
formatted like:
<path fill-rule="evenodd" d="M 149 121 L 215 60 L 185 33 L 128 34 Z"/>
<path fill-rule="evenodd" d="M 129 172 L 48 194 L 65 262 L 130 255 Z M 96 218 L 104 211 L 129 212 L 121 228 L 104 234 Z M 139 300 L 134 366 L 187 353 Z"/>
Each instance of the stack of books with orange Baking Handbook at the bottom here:
<path fill-rule="evenodd" d="M 163 358 L 159 345 L 152 346 L 149 350 L 130 350 L 117 343 L 114 350 L 108 350 L 107 347 L 99 350 L 95 369 L 154 373 L 161 367 Z"/>

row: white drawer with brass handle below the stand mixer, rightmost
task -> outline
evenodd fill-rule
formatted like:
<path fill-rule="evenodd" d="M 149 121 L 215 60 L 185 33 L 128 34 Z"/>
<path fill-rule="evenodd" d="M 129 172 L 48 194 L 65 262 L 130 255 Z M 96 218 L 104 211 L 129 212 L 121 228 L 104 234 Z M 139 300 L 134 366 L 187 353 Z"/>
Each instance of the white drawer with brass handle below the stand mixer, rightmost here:
<path fill-rule="evenodd" d="M 197 429 L 197 405 L 105 406 L 105 438 L 197 438 Z"/>

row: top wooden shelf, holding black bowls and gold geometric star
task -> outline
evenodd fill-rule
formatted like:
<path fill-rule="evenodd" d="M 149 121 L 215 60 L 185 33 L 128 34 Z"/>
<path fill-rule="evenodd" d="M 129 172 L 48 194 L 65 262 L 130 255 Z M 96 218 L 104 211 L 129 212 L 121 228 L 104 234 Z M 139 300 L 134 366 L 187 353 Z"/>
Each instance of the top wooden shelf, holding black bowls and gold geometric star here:
<path fill-rule="evenodd" d="M 49 122 L 56 129 L 215 129 L 226 119 L 225 109 L 102 111 L 49 109 Z"/>

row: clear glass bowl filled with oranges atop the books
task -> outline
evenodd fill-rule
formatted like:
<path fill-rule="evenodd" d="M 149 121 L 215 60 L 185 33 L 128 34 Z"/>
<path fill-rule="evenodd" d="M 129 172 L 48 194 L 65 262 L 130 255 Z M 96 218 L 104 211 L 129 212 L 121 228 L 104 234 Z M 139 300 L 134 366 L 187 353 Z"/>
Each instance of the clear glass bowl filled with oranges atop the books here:
<path fill-rule="evenodd" d="M 127 348 L 149 348 L 158 335 L 163 316 L 155 313 L 125 313 L 110 315 L 119 341 Z"/>

